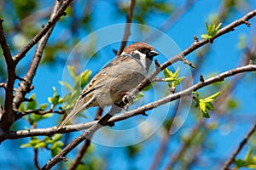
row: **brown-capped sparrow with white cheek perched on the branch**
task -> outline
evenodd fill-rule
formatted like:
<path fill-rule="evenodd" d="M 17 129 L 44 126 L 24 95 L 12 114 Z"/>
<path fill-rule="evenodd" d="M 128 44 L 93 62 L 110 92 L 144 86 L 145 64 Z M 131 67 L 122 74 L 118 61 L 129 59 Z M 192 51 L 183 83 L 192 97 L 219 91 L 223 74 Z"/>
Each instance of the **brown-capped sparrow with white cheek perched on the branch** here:
<path fill-rule="evenodd" d="M 58 129 L 65 126 L 79 111 L 121 102 L 130 90 L 143 81 L 153 57 L 158 54 L 152 46 L 144 42 L 135 42 L 127 46 L 122 54 L 103 67 L 85 86 L 73 110 Z"/>

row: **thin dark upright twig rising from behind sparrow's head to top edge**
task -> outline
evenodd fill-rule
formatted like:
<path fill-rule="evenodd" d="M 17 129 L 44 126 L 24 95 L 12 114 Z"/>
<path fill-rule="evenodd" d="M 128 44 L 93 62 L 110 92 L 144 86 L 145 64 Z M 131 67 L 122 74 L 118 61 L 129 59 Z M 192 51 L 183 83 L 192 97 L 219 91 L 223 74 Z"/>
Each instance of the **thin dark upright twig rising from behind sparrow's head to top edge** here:
<path fill-rule="evenodd" d="M 121 45 L 120 45 L 119 52 L 118 52 L 117 56 L 119 54 L 122 54 L 122 52 L 123 52 L 123 50 L 126 46 L 128 37 L 131 34 L 131 32 L 130 32 L 130 30 L 131 30 L 131 20 L 132 20 L 132 15 L 133 15 L 133 10 L 134 10 L 134 7 L 135 7 L 135 3 L 136 3 L 136 0 L 130 0 L 130 7 L 129 7 L 128 14 L 126 16 L 125 34 L 124 34 L 123 40 L 121 42 Z"/>

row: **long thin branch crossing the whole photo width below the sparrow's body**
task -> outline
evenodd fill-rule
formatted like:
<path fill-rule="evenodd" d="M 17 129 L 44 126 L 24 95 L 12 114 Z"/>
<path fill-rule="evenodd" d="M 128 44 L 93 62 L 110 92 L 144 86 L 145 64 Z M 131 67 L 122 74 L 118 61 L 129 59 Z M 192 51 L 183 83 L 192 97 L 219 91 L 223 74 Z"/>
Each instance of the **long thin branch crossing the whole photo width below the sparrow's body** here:
<path fill-rule="evenodd" d="M 177 92 L 176 94 L 169 94 L 163 99 L 159 99 L 157 101 L 151 102 L 147 105 L 143 105 L 135 110 L 132 111 L 126 111 L 119 116 L 113 116 L 112 118 L 109 119 L 109 122 L 119 122 L 125 119 L 128 119 L 131 116 L 137 116 L 140 115 L 141 113 L 145 111 L 152 110 L 156 107 L 159 107 L 160 105 L 164 105 L 168 102 L 171 102 L 175 99 L 179 99 L 185 95 L 191 94 L 192 91 L 198 90 L 200 88 L 206 87 L 214 82 L 220 82 L 223 81 L 224 78 L 226 77 L 232 77 L 236 74 L 242 73 L 242 72 L 247 72 L 247 71 L 256 71 L 256 65 L 245 65 L 241 66 L 239 68 L 230 70 L 230 71 L 225 71 L 224 73 L 219 74 L 218 76 L 209 78 L 205 80 L 205 82 L 198 82 L 194 86 L 184 89 L 180 92 Z M 55 133 L 69 133 L 69 132 L 74 132 L 78 130 L 83 130 L 92 127 L 95 125 L 97 121 L 93 122 L 85 122 L 85 123 L 80 123 L 77 125 L 67 125 L 61 129 L 57 129 L 57 127 L 48 127 L 48 128 L 38 128 L 38 129 L 29 129 L 29 130 L 19 130 L 19 131 L 10 131 L 8 133 L 0 133 L 0 142 L 3 141 L 4 139 L 20 139 L 20 138 L 25 138 L 25 137 L 30 137 L 30 136 L 49 136 Z"/>

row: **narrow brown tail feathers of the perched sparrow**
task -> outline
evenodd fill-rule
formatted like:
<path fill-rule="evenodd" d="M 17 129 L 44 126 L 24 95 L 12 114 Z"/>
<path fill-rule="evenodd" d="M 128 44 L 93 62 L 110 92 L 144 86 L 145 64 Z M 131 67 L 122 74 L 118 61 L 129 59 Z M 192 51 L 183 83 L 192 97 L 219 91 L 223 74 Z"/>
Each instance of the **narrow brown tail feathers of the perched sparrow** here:
<path fill-rule="evenodd" d="M 61 129 L 62 127 L 64 127 L 67 124 L 67 122 L 69 122 L 73 118 L 73 116 L 75 116 L 77 113 L 79 113 L 79 111 L 82 111 L 82 110 L 88 108 L 88 106 L 94 99 L 95 99 L 95 97 L 92 97 L 84 105 L 83 104 L 81 105 L 81 103 L 83 103 L 83 99 L 79 99 L 79 101 L 73 107 L 73 110 L 67 115 L 67 117 L 58 126 L 58 129 Z"/>

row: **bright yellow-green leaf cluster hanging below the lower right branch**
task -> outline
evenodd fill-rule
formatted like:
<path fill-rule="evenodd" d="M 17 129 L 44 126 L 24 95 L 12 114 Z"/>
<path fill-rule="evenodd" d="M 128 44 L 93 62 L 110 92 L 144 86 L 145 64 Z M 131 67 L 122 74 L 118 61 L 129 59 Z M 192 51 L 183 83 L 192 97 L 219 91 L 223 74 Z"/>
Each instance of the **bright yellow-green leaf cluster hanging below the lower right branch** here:
<path fill-rule="evenodd" d="M 211 96 L 205 99 L 201 97 L 199 92 L 192 92 L 192 94 L 195 94 L 193 96 L 193 99 L 195 99 L 195 102 L 196 102 L 195 107 L 199 107 L 199 110 L 201 111 L 202 116 L 206 118 L 210 118 L 210 114 L 208 110 L 213 111 L 212 101 L 214 101 L 214 99 L 216 99 L 219 96 L 219 94 L 221 94 L 221 92 L 212 94 Z"/>

